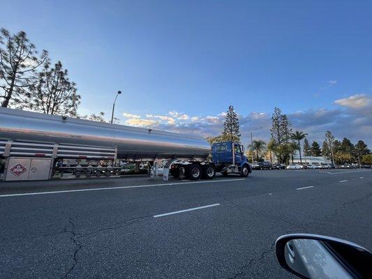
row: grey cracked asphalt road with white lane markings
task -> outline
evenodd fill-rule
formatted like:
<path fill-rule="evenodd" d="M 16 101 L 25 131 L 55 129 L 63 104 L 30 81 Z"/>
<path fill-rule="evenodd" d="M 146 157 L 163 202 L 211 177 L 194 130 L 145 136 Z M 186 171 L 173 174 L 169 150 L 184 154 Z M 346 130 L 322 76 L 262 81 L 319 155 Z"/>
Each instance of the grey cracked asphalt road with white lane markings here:
<path fill-rule="evenodd" d="M 372 171 L 2 182 L 0 226 L 0 278 L 292 278 L 282 234 L 372 250 Z"/>

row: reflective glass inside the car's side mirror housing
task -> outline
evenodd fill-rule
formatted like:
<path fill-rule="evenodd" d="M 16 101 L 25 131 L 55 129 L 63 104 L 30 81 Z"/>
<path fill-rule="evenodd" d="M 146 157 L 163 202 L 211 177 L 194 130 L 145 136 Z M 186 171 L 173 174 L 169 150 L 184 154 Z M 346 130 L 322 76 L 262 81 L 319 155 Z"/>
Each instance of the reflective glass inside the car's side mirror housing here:
<path fill-rule="evenodd" d="M 363 278 L 364 251 L 342 242 L 291 239 L 284 257 L 288 267 L 305 278 Z"/>

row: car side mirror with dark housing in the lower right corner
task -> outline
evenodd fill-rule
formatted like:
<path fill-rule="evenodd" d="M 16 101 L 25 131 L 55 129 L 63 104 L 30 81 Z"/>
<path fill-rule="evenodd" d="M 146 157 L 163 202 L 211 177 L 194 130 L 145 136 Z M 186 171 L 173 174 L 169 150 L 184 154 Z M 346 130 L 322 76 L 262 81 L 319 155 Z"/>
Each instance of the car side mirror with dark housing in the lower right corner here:
<path fill-rule="evenodd" d="M 369 278 L 372 254 L 362 246 L 317 234 L 288 234 L 276 240 L 279 264 L 299 278 Z"/>

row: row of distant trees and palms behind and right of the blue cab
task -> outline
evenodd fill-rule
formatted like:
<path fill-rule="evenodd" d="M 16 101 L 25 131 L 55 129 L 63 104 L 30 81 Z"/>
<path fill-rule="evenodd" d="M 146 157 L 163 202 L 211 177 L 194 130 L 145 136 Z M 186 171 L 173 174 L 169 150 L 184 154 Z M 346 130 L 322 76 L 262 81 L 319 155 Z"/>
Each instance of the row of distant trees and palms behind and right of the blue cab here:
<path fill-rule="evenodd" d="M 269 151 L 270 160 L 276 157 L 279 163 L 290 163 L 294 160 L 294 156 L 299 154 L 300 163 L 302 163 L 302 154 L 304 156 L 324 156 L 332 160 L 332 164 L 343 163 L 364 163 L 372 164 L 372 154 L 368 146 L 359 140 L 356 144 L 352 144 L 348 138 L 344 137 L 342 141 L 336 140 L 330 131 L 325 133 L 325 140 L 322 142 L 322 147 L 316 141 L 309 144 L 307 133 L 299 130 L 292 131 L 292 124 L 288 116 L 281 112 L 278 107 L 274 108 L 274 113 L 271 116 L 270 140 L 253 140 L 252 144 L 248 145 L 248 158 L 252 157 L 255 160 L 263 160 L 267 151 Z M 223 123 L 223 131 L 221 135 L 216 137 L 207 137 L 210 144 L 215 142 L 234 141 L 240 142 L 239 119 L 234 107 L 230 105 Z M 303 141 L 303 144 L 302 144 Z"/>

